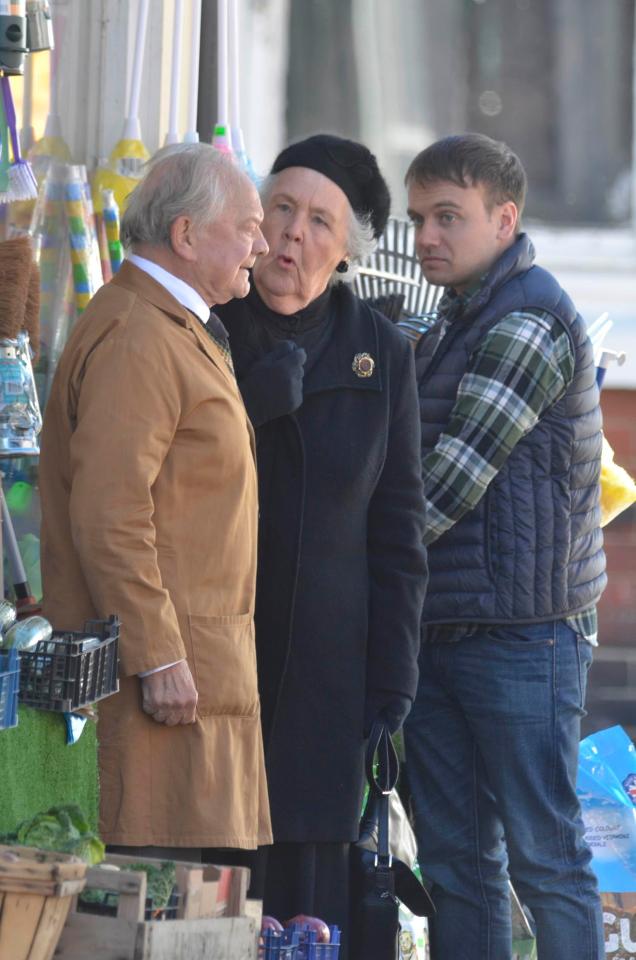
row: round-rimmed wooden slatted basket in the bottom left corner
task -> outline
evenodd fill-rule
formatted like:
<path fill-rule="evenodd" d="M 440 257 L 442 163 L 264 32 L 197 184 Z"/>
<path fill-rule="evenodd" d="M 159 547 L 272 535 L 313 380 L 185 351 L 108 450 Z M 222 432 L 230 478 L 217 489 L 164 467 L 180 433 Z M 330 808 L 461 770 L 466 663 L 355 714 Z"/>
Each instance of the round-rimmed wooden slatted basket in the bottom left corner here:
<path fill-rule="evenodd" d="M 85 872 L 62 853 L 0 846 L 0 960 L 51 960 Z"/>

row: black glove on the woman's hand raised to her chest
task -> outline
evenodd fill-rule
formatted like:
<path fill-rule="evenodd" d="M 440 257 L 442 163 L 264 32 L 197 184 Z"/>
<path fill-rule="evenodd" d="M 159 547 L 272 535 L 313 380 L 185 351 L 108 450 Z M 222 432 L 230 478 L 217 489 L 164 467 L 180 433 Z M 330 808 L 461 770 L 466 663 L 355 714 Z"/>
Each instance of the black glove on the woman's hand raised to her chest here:
<path fill-rule="evenodd" d="M 303 402 L 304 364 L 307 354 L 292 340 L 281 340 L 257 360 L 239 388 L 253 426 L 260 427 L 293 413 Z"/>

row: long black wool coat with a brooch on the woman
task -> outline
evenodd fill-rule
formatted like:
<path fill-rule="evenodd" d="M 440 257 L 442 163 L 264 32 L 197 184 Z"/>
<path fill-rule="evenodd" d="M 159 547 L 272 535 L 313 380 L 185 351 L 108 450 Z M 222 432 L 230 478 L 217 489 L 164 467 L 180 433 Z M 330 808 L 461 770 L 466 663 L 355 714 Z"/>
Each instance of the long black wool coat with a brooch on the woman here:
<path fill-rule="evenodd" d="M 271 347 L 254 300 L 218 311 L 239 386 Z M 256 645 L 277 841 L 357 838 L 365 698 L 413 697 L 426 590 L 412 348 L 344 284 L 326 310 L 301 407 L 256 429 Z M 375 362 L 367 378 L 359 353 Z"/>

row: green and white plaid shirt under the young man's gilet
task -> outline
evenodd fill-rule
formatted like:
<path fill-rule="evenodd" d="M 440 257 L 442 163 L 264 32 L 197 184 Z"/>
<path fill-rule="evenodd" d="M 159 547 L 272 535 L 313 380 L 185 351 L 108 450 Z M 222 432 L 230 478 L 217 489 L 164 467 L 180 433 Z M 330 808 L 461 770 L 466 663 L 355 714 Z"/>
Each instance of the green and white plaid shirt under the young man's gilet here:
<path fill-rule="evenodd" d="M 440 319 L 450 314 L 448 326 L 473 295 L 448 291 L 439 304 Z M 441 339 L 444 333 L 442 326 Z M 551 314 L 515 311 L 488 331 L 460 381 L 446 429 L 422 461 L 427 544 L 476 507 L 517 443 L 563 396 L 573 375 L 570 338 Z M 595 607 L 568 622 L 596 643 Z"/>

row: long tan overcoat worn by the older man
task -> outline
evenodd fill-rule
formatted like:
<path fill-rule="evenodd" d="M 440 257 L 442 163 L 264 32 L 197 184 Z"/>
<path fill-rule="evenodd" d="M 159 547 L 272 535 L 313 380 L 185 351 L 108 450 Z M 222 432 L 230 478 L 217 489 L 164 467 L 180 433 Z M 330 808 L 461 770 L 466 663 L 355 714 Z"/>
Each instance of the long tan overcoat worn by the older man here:
<path fill-rule="evenodd" d="M 124 263 L 60 360 L 42 432 L 45 613 L 116 613 L 121 690 L 99 709 L 101 833 L 134 846 L 271 842 L 254 649 L 254 438 L 198 321 Z M 187 657 L 193 725 L 137 674 Z"/>

